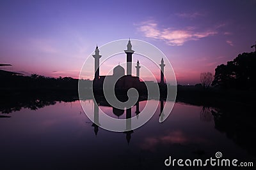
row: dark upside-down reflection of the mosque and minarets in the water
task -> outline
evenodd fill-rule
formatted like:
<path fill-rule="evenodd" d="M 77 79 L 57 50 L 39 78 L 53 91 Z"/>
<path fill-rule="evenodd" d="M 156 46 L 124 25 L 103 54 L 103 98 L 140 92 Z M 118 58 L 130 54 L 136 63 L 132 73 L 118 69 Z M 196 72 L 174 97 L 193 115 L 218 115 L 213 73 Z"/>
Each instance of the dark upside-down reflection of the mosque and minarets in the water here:
<path fill-rule="evenodd" d="M 137 103 L 134 105 L 136 106 L 136 117 L 139 118 L 139 115 L 140 115 L 140 102 L 141 101 L 145 101 L 145 99 L 141 99 L 141 100 L 138 100 Z M 160 103 L 160 113 L 159 113 L 159 117 L 161 117 L 161 119 L 163 119 L 164 117 L 164 113 L 163 113 L 163 108 L 164 108 L 164 99 L 160 99 L 159 101 Z M 111 107 L 108 103 L 106 103 L 105 101 L 99 101 L 99 100 L 95 100 L 93 101 L 93 124 L 92 124 L 92 127 L 94 127 L 94 133 L 95 133 L 95 136 L 97 136 L 98 132 L 99 132 L 99 125 L 100 125 L 100 122 L 99 122 L 99 106 L 108 106 L 108 107 Z M 130 143 L 130 140 L 131 140 L 131 134 L 134 132 L 133 130 L 129 131 L 129 129 L 131 129 L 131 125 L 132 125 L 132 122 L 131 122 L 131 117 L 132 117 L 132 108 L 128 108 L 128 109 L 124 109 L 124 110 L 121 110 L 121 109 L 118 109 L 118 108 L 115 108 L 115 107 L 112 107 L 112 112 L 114 115 L 116 115 L 116 117 L 120 117 L 124 114 L 125 112 L 125 118 L 126 118 L 126 128 L 127 131 L 124 131 L 124 134 L 126 134 L 125 138 L 127 140 L 127 143 L 129 144 Z"/>

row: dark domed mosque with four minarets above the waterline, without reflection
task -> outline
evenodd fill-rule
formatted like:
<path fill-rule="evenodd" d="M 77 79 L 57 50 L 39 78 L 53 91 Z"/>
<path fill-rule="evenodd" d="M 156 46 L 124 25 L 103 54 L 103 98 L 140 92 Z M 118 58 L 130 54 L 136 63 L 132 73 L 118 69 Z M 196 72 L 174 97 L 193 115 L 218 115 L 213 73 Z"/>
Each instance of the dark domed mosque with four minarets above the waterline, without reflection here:
<path fill-rule="evenodd" d="M 131 40 L 129 39 L 127 44 L 127 50 L 124 50 L 126 53 L 126 75 L 125 75 L 125 69 L 124 67 L 118 65 L 113 69 L 112 75 L 100 75 L 100 67 L 99 67 L 99 59 L 102 57 L 100 55 L 100 51 L 98 46 L 96 46 L 95 54 L 92 55 L 95 59 L 95 74 L 93 79 L 93 93 L 94 94 L 103 94 L 103 86 L 104 83 L 106 83 L 106 90 L 108 91 L 108 88 L 115 87 L 115 93 L 116 94 L 127 94 L 127 90 L 134 88 L 138 91 L 140 95 L 146 95 L 147 94 L 147 86 L 146 81 L 140 80 L 140 62 L 139 60 L 136 63 L 136 76 L 132 76 L 132 54 L 134 53 L 134 50 L 132 50 L 132 44 Z M 164 89 L 166 86 L 166 83 L 164 83 L 164 60 L 161 59 L 161 80 L 158 83 L 160 89 Z M 149 81 L 148 81 L 149 82 Z M 150 82 L 152 83 L 152 81 Z M 161 90 L 160 90 L 161 91 Z"/>

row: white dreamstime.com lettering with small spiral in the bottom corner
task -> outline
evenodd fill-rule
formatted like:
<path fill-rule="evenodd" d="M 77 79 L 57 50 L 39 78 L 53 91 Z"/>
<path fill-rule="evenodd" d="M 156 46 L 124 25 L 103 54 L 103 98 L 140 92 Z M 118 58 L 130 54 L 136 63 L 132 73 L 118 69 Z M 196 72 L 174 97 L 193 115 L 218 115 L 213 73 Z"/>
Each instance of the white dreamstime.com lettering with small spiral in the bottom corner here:
<path fill-rule="evenodd" d="M 253 167 L 253 162 L 239 162 L 237 159 L 221 159 L 222 153 L 216 152 L 215 157 L 209 159 L 172 159 L 169 156 L 168 159 L 164 160 L 165 166 L 188 166 L 188 167 L 202 167 L 202 166 L 218 166 L 218 167 Z"/>

